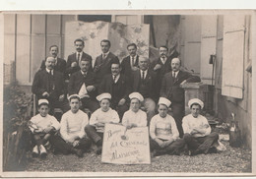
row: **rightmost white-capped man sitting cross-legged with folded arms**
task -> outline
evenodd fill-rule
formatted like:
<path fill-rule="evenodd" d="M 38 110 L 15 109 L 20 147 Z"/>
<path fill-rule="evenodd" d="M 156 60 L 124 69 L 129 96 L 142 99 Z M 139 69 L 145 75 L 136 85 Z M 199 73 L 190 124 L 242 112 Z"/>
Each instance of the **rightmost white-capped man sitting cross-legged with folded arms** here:
<path fill-rule="evenodd" d="M 218 141 L 219 135 L 211 133 L 211 127 L 208 120 L 200 115 L 200 110 L 204 107 L 204 103 L 193 98 L 188 101 L 191 114 L 183 118 L 184 141 L 189 149 L 189 155 L 198 153 L 216 152 L 217 149 L 213 144 Z"/>

